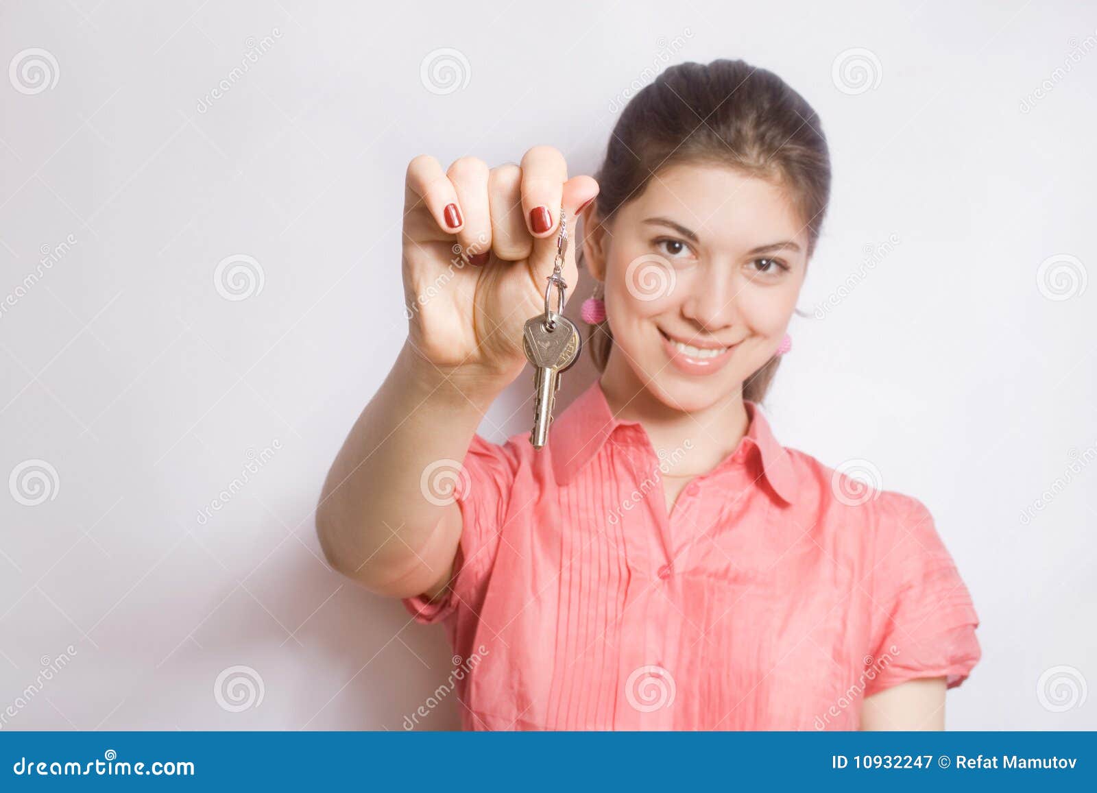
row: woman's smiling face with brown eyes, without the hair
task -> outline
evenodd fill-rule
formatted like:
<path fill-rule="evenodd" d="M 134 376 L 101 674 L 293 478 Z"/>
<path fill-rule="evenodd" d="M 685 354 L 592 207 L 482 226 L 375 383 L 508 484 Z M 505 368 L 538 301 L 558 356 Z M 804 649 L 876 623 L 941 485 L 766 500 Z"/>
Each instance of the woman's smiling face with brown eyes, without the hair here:
<path fill-rule="evenodd" d="M 609 376 L 635 376 L 666 405 L 694 411 L 736 393 L 777 351 L 808 241 L 777 185 L 726 167 L 676 165 L 624 204 L 600 239 Z"/>

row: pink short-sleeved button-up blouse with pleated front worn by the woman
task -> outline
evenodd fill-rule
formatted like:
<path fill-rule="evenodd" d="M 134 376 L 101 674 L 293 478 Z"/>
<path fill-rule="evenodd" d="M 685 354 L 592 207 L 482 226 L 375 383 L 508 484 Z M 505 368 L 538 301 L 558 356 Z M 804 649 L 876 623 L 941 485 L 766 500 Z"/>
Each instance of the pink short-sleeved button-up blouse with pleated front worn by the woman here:
<path fill-rule="evenodd" d="M 669 514 L 674 452 L 598 381 L 540 452 L 474 437 L 453 586 L 404 599 L 446 627 L 465 729 L 857 729 L 866 696 L 968 677 L 979 618 L 926 507 L 746 408 Z"/>

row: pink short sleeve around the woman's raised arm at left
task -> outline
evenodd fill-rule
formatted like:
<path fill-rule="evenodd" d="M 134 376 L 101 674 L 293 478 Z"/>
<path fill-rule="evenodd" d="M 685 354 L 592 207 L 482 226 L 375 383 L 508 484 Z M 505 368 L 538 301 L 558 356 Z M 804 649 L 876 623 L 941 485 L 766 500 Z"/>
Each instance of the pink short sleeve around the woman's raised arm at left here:
<path fill-rule="evenodd" d="M 473 435 L 453 491 L 462 517 L 453 577 L 433 601 L 422 594 L 403 599 L 416 622 L 440 622 L 462 602 L 478 608 L 498 553 L 517 469 L 518 455 L 512 443 L 499 445 L 479 434 Z"/>

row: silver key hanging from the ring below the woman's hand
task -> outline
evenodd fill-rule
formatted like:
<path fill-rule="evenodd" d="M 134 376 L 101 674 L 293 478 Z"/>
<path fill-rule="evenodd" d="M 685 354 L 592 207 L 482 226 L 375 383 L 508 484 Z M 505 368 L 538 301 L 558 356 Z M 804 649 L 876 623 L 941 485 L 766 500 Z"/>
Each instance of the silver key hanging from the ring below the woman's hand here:
<path fill-rule="evenodd" d="M 535 394 L 530 443 L 534 449 L 541 449 L 548 440 L 548 424 L 552 423 L 561 374 L 579 360 L 583 336 L 570 319 L 550 311 L 525 322 L 522 348 L 525 350 L 525 358 L 536 370 L 533 375 Z"/>

